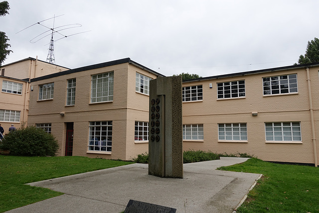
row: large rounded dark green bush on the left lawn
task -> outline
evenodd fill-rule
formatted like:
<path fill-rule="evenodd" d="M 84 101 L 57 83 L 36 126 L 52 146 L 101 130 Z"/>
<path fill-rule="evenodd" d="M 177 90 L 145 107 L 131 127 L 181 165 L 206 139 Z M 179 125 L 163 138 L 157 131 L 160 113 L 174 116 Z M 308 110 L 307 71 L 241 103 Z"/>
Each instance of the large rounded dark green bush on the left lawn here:
<path fill-rule="evenodd" d="M 21 127 L 4 136 L 0 149 L 15 156 L 55 156 L 59 145 L 53 135 L 35 126 Z"/>

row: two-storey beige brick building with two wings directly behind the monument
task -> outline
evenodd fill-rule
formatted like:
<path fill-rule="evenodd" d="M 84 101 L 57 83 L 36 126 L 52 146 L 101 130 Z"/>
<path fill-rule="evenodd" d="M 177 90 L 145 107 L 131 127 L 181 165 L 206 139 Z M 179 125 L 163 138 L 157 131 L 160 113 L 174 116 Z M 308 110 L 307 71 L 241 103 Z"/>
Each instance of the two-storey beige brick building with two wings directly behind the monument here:
<path fill-rule="evenodd" d="M 28 123 L 59 155 L 130 160 L 148 151 L 149 81 L 130 58 L 31 80 Z M 183 82 L 183 149 L 318 165 L 319 63 Z M 316 148 L 317 147 L 317 148 Z"/>

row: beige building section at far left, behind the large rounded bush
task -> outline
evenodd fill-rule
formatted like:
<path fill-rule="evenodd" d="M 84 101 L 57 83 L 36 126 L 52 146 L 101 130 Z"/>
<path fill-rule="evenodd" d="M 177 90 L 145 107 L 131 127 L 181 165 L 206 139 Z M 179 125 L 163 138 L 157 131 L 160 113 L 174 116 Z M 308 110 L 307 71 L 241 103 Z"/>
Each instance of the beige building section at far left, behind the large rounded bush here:
<path fill-rule="evenodd" d="M 4 134 L 11 124 L 19 128 L 27 122 L 30 79 L 67 69 L 31 57 L 0 67 L 0 123 Z"/>

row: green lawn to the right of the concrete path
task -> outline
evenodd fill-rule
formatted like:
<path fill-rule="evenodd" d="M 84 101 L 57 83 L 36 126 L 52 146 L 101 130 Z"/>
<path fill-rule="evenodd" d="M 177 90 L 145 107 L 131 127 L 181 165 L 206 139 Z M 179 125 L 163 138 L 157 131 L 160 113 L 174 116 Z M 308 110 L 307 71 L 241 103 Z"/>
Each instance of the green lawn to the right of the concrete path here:
<path fill-rule="evenodd" d="M 252 158 L 218 169 L 264 175 L 237 212 L 319 213 L 319 168 L 280 165 Z"/>

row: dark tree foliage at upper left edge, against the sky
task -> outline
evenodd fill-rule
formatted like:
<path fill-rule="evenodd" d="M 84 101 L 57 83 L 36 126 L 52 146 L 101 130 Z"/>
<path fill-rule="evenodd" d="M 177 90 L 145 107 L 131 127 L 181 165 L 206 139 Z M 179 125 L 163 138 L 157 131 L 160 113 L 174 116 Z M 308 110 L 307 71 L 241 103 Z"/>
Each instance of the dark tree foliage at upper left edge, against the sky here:
<path fill-rule="evenodd" d="M 9 3 L 7 1 L 0 2 L 0 16 L 5 16 L 9 14 L 8 10 L 10 9 Z M 8 37 L 5 35 L 5 32 L 0 31 L 0 66 L 5 60 L 6 56 L 12 52 L 12 50 L 7 49 L 11 45 L 7 43 Z"/>

